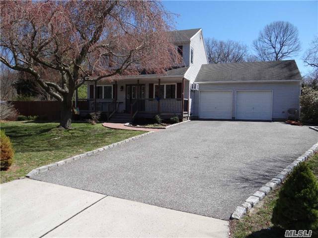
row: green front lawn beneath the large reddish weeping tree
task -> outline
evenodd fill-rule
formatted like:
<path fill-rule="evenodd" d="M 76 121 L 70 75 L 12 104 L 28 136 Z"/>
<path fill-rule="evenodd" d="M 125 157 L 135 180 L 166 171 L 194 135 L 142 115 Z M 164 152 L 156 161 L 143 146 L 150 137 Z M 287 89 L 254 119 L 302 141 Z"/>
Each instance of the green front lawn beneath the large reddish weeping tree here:
<path fill-rule="evenodd" d="M 9 170 L 0 172 L 1 183 L 25 176 L 34 168 L 145 133 L 89 123 L 72 123 L 72 130 L 57 126 L 33 121 L 1 122 L 15 150 L 14 163 Z"/>

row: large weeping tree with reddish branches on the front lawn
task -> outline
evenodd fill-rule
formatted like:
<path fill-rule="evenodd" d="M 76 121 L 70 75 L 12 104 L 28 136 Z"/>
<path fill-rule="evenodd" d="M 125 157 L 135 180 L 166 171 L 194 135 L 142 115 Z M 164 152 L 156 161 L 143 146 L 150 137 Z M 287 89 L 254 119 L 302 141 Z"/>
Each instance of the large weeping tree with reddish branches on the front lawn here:
<path fill-rule="evenodd" d="M 0 61 L 32 74 L 61 102 L 64 128 L 71 128 L 72 98 L 85 81 L 163 73 L 178 60 L 167 37 L 170 15 L 158 1 L 2 0 L 0 7 Z M 48 70 L 58 83 L 47 80 Z"/>

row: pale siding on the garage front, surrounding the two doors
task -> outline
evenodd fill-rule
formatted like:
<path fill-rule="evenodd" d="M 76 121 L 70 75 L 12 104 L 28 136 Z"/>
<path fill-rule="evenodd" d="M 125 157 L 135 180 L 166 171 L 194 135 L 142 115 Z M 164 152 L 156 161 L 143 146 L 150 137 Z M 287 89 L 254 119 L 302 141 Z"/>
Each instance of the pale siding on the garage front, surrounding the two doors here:
<path fill-rule="evenodd" d="M 224 84 L 200 84 L 200 91 L 229 90 L 233 91 L 233 113 L 235 118 L 237 91 L 244 90 L 272 90 L 273 91 L 273 119 L 286 119 L 287 110 L 297 108 L 299 110 L 300 83 L 224 83 Z M 194 103 L 192 104 L 192 117 L 199 116 L 199 91 L 194 92 Z"/>

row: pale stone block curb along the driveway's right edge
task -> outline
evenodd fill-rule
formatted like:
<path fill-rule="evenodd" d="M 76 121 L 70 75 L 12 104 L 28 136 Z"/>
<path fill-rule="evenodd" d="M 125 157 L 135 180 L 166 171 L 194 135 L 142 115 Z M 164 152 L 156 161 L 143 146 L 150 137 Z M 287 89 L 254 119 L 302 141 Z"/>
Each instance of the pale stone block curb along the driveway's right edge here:
<path fill-rule="evenodd" d="M 264 186 L 260 187 L 258 191 L 256 191 L 252 196 L 249 196 L 242 205 L 237 206 L 237 208 L 231 216 L 231 219 L 241 219 L 247 213 L 247 211 L 251 209 L 251 207 L 254 207 L 259 201 L 263 200 L 263 198 L 271 190 L 274 190 L 277 187 L 277 185 L 282 183 L 286 179 L 286 177 L 294 170 L 294 168 L 299 165 L 299 163 L 307 160 L 316 151 L 318 151 L 318 142 L 315 145 L 313 145 L 309 150 L 307 150 L 303 155 L 298 157 L 298 159 L 296 159 L 293 163 L 288 165 L 280 174 L 276 175 Z"/>

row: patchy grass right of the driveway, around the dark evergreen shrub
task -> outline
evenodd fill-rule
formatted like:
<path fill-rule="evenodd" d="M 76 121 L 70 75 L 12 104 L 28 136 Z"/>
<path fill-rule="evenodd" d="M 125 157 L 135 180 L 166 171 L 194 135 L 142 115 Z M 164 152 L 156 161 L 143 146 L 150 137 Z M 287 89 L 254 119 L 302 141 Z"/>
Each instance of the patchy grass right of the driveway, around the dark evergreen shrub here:
<path fill-rule="evenodd" d="M 318 153 L 307 162 L 313 173 L 318 178 Z M 278 199 L 280 188 L 275 189 L 263 200 L 260 207 L 254 208 L 240 220 L 230 222 L 232 238 L 282 238 L 285 230 L 274 227 L 271 223 L 273 208 Z M 318 232 L 313 231 L 312 237 L 318 237 Z"/>

